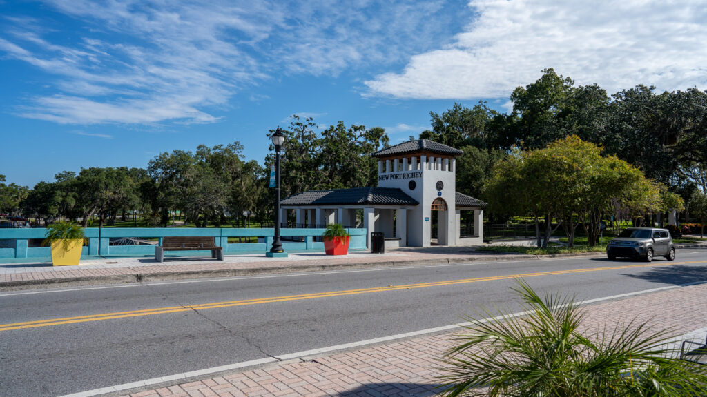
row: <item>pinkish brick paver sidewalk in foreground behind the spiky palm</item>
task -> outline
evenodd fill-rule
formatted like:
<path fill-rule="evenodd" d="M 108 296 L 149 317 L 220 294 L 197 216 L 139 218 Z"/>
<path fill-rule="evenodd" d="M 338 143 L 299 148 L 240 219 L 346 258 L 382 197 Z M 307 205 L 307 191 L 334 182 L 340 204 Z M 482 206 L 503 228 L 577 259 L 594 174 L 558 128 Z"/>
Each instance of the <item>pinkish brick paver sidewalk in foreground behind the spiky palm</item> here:
<path fill-rule="evenodd" d="M 707 332 L 707 285 L 676 288 L 585 307 L 585 326 L 613 329 L 619 321 L 638 321 L 674 334 Z M 701 329 L 700 329 L 701 328 Z M 461 331 L 339 352 L 297 362 L 279 362 L 245 372 L 223 374 L 132 397 L 167 396 L 431 396 L 439 384 L 440 357 Z"/>

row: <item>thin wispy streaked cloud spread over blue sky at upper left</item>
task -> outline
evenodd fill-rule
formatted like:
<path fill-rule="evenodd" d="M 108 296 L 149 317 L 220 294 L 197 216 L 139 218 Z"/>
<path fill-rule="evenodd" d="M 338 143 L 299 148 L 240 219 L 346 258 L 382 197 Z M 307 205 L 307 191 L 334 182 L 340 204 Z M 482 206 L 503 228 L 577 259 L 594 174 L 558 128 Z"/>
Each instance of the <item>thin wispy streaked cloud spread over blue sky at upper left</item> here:
<path fill-rule="evenodd" d="M 245 88 L 395 64 L 450 40 L 457 17 L 445 0 L 45 3 L 73 19 L 6 16 L 0 54 L 54 78 L 21 114 L 67 124 L 214 122 Z"/>

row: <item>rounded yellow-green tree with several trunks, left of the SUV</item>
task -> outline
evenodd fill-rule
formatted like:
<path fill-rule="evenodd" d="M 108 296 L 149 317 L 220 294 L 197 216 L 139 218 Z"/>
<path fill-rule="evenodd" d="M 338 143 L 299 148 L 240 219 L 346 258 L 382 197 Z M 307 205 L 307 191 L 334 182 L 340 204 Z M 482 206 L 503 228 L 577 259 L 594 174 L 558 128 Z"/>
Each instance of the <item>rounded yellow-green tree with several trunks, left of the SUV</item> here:
<path fill-rule="evenodd" d="M 553 232 L 553 218 L 559 218 L 570 246 L 578 225 L 584 225 L 589 244 L 594 245 L 603 213 L 611 203 L 625 204 L 632 213 L 655 211 L 660 205 L 657 186 L 640 170 L 619 158 L 602 157 L 600 147 L 578 136 L 544 149 L 518 152 L 496 167 L 485 192 L 491 210 L 529 213 L 542 248 L 547 248 Z"/>

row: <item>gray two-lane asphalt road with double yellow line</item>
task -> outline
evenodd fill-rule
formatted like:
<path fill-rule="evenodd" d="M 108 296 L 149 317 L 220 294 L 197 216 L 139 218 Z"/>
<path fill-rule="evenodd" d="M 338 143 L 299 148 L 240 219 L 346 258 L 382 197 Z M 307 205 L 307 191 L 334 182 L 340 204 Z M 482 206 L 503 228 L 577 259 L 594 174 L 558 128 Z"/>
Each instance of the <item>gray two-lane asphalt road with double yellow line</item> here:
<path fill-rule="evenodd" d="M 431 264 L 6 292 L 0 294 L 0 395 L 60 396 L 419 331 L 459 323 L 493 304 L 513 312 L 511 275 L 524 275 L 537 290 L 585 300 L 707 280 L 706 265 L 707 250 L 684 249 L 674 262 L 650 264 L 603 258 Z"/>

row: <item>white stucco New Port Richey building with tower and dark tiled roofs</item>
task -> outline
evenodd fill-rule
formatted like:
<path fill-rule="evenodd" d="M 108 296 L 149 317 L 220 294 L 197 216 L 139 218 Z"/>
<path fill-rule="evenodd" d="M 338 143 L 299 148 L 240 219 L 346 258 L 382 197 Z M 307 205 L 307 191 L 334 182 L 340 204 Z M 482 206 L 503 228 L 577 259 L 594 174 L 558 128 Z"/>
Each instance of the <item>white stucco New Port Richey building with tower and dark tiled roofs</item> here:
<path fill-rule="evenodd" d="M 378 187 L 304 191 L 281 201 L 298 227 L 341 223 L 383 232 L 386 246 L 474 245 L 483 240 L 486 203 L 456 191 L 457 156 L 450 146 L 418 139 L 373 153 Z M 462 230 L 462 211 L 473 227 Z M 466 225 L 465 225 L 466 226 Z"/>

